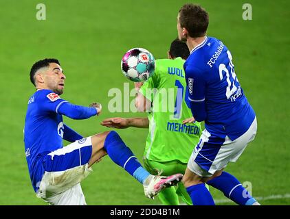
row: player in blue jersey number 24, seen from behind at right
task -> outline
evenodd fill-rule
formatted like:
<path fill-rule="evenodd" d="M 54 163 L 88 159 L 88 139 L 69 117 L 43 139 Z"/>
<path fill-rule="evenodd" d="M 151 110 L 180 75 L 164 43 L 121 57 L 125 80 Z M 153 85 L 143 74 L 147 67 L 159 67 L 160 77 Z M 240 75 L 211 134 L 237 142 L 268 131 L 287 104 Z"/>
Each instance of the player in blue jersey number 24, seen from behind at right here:
<path fill-rule="evenodd" d="M 179 40 L 190 49 L 184 69 L 192 115 L 205 122 L 183 183 L 193 205 L 214 205 L 205 182 L 238 205 L 259 205 L 238 179 L 223 171 L 254 140 L 257 121 L 234 72 L 230 51 L 221 40 L 206 36 L 208 23 L 208 13 L 199 5 L 189 3 L 179 10 Z"/>

